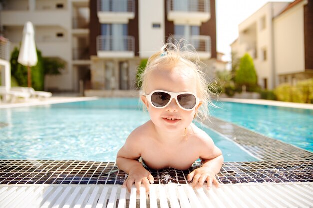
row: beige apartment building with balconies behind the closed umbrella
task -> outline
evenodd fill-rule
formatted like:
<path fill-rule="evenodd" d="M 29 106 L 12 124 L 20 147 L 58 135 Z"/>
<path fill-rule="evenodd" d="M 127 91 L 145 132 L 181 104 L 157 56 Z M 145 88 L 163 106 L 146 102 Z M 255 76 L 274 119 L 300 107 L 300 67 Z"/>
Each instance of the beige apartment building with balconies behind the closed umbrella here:
<path fill-rule="evenodd" d="M 2 0 L 0 33 L 13 51 L 20 47 L 24 23 L 31 21 L 42 56 L 66 63 L 61 75 L 45 77 L 45 90 L 78 91 L 79 80 L 90 77 L 89 13 L 89 0 Z"/>

